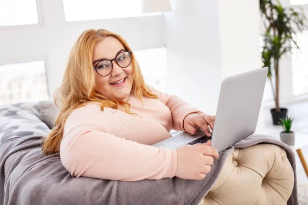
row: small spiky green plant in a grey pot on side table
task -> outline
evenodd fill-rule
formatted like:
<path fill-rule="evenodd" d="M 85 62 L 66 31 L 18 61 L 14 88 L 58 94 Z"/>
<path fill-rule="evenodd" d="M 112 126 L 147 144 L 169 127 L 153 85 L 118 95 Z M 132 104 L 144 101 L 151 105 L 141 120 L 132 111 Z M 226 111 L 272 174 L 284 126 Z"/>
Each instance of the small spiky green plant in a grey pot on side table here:
<path fill-rule="evenodd" d="M 280 118 L 280 121 L 278 122 L 278 124 L 281 125 L 284 130 L 280 132 L 280 140 L 288 146 L 294 146 L 295 141 L 294 132 L 291 131 L 293 119 L 294 118 L 286 116 L 286 118 Z"/>

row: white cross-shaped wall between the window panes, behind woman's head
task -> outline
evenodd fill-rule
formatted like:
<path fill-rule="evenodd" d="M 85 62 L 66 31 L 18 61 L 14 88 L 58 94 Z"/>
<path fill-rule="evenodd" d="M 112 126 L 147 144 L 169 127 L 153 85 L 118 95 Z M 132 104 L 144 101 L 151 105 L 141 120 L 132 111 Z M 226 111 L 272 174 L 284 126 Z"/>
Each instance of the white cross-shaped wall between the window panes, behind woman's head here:
<path fill-rule="evenodd" d="M 122 35 L 133 50 L 164 46 L 162 16 L 66 22 L 62 0 L 38 0 L 40 24 L 0 27 L 0 65 L 46 60 L 49 95 L 60 86 L 69 51 L 86 29 L 109 29 Z"/>

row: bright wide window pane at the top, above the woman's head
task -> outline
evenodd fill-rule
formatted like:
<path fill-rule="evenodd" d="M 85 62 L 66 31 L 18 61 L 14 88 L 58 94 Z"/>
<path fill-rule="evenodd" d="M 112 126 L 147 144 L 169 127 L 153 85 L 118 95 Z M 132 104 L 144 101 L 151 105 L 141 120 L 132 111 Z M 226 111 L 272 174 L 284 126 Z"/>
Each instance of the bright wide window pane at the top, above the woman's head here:
<path fill-rule="evenodd" d="M 141 15 L 142 0 L 63 0 L 67 22 Z"/>

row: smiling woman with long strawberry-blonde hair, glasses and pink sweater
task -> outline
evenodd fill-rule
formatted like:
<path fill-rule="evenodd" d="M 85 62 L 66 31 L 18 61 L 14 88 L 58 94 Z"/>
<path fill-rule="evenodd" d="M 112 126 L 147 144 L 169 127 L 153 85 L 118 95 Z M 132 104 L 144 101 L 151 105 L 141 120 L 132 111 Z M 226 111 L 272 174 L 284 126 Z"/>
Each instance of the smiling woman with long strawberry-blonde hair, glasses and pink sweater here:
<path fill-rule="evenodd" d="M 215 116 L 145 85 L 125 40 L 107 30 L 87 30 L 74 44 L 55 103 L 60 114 L 43 139 L 43 152 L 60 152 L 72 176 L 137 181 L 203 179 L 216 149 L 207 144 L 177 150 L 150 145 L 170 130 L 209 136 Z"/>

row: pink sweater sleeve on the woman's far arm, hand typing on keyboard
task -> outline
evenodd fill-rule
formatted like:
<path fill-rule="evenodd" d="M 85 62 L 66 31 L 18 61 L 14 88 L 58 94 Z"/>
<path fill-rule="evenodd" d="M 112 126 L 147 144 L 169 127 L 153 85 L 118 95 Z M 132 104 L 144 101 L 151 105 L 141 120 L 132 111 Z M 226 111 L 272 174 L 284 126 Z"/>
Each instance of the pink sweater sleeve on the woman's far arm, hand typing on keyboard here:
<path fill-rule="evenodd" d="M 160 92 L 156 89 L 150 88 L 151 91 L 156 94 L 162 103 L 164 103 L 172 114 L 172 129 L 178 131 L 185 131 L 184 129 L 184 119 L 187 115 L 191 113 L 203 113 L 202 111 L 198 110 L 187 104 L 184 100 L 180 97 L 175 95 L 169 95 L 167 93 Z M 204 113 L 203 113 L 204 114 Z"/>

